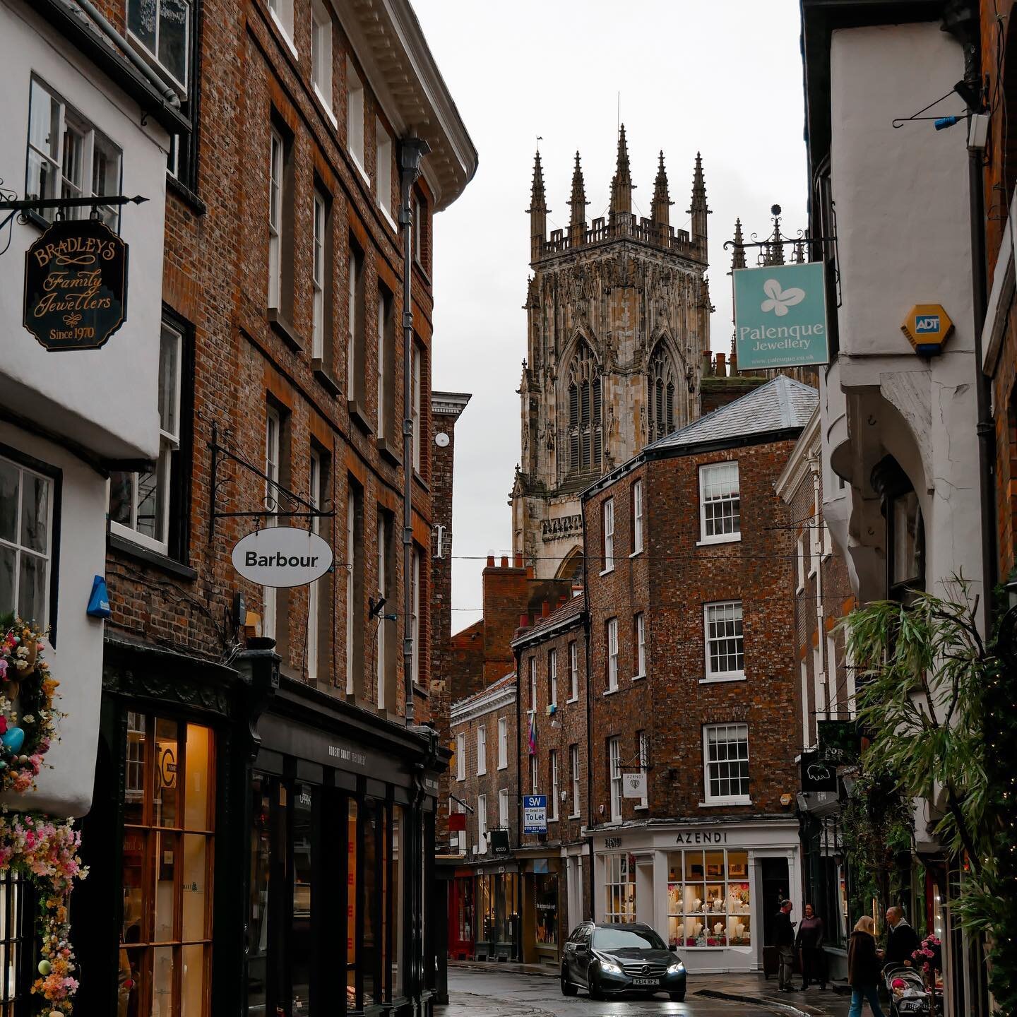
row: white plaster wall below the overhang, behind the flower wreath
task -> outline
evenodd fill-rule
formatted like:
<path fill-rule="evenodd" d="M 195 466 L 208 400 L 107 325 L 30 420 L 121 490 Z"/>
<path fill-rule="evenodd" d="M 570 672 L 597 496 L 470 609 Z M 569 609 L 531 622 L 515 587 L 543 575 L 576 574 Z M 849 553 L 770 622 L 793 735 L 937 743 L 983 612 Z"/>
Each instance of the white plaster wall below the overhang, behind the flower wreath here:
<path fill-rule="evenodd" d="M 103 621 L 85 614 L 94 577 L 106 569 L 107 482 L 76 456 L 51 441 L 0 421 L 6 445 L 61 471 L 56 646 L 48 646 L 60 682 L 56 707 L 59 740 L 46 754 L 38 789 L 0 795 L 12 809 L 55 816 L 83 816 L 92 804 L 99 742 L 103 674 Z"/>

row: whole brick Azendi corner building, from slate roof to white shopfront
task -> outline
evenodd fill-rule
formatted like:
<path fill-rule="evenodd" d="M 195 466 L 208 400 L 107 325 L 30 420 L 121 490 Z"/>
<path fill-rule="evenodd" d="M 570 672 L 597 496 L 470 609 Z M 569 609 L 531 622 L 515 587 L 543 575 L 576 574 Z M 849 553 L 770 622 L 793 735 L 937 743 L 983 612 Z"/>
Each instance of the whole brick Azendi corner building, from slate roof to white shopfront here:
<path fill-rule="evenodd" d="M 815 406 L 777 377 L 583 495 L 593 917 L 650 922 L 692 970 L 758 968 L 778 896 L 800 907 L 794 544 L 774 482 Z"/>

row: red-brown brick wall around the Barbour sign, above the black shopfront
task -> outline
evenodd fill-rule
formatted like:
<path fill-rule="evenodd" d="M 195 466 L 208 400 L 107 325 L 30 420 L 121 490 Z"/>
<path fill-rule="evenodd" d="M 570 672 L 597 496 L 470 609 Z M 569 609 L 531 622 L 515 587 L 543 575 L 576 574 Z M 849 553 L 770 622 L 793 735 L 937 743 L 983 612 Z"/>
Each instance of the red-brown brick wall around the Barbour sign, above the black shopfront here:
<path fill-rule="evenodd" d="M 123 4 L 111 4 L 115 20 Z M 189 540 L 180 561 L 161 560 L 111 549 L 108 567 L 117 633 L 219 659 L 233 639 L 230 605 L 240 591 L 250 610 L 262 612 L 262 591 L 237 577 L 230 549 L 254 529 L 251 520 L 222 520 L 216 539 L 208 541 L 211 461 L 208 441 L 218 425 L 222 440 L 256 466 L 264 459 L 264 429 L 270 402 L 282 413 L 284 484 L 306 496 L 310 452 L 315 447 L 330 463 L 322 500 L 336 511 L 335 520 L 320 523 L 322 536 L 336 547 L 334 578 L 319 584 L 321 603 L 317 684 L 345 694 L 346 660 L 346 503 L 351 489 L 360 491 L 358 547 L 362 582 L 353 610 L 358 646 L 355 701 L 373 709 L 379 691 L 375 680 L 374 640 L 369 631 L 367 598 L 377 591 L 376 521 L 388 514 L 394 521 L 390 555 L 390 603 L 401 604 L 403 560 L 400 535 L 403 470 L 401 448 L 379 448 L 374 433 L 377 361 L 375 325 L 381 288 L 397 295 L 393 308 L 399 320 L 402 255 L 397 233 L 386 223 L 347 147 L 346 59 L 352 52 L 339 22 L 333 33 L 334 127 L 314 97 L 309 72 L 310 2 L 295 0 L 295 59 L 266 5 L 238 5 L 231 0 L 205 0 L 200 37 L 200 121 L 197 131 L 196 197 L 170 187 L 166 210 L 164 297 L 192 336 L 193 414 L 184 421 L 184 443 L 190 448 L 186 505 Z M 365 88 L 365 169 L 376 179 L 375 116 L 379 111 Z M 266 311 L 267 207 L 270 131 L 275 125 L 291 146 L 286 187 L 292 195 L 284 207 L 284 273 L 286 293 L 281 302 L 283 324 Z M 393 166 L 393 179 L 398 168 Z M 312 197 L 314 188 L 331 199 L 328 242 L 332 272 L 326 277 L 331 342 L 324 362 L 311 361 Z M 430 202 L 426 183 L 420 195 Z M 429 223 L 425 224 L 425 232 Z M 348 265 L 350 238 L 364 253 L 364 357 L 360 383 L 363 399 L 351 409 L 346 392 Z M 429 271 L 429 265 L 426 265 Z M 421 551 L 420 668 L 423 715 L 429 671 L 429 600 L 431 497 L 431 433 L 429 376 L 432 294 L 427 276 L 414 268 L 412 279 L 414 330 L 422 354 L 421 478 L 414 482 L 414 539 Z M 401 343 L 391 365 L 394 397 L 393 429 L 404 413 Z M 315 370 L 315 368 L 318 368 Z M 337 392 L 338 390 L 338 392 Z M 221 511 L 253 511 L 262 505 L 263 482 L 240 470 L 226 468 L 233 483 L 218 495 Z M 307 679 L 307 588 L 280 591 L 278 649 L 284 671 Z M 395 613 L 402 613 L 401 606 Z M 393 626 L 395 622 L 382 622 Z M 395 663 L 385 701 L 394 716 L 404 711 L 401 633 L 390 659 Z M 390 642 L 386 645 L 393 645 Z"/>

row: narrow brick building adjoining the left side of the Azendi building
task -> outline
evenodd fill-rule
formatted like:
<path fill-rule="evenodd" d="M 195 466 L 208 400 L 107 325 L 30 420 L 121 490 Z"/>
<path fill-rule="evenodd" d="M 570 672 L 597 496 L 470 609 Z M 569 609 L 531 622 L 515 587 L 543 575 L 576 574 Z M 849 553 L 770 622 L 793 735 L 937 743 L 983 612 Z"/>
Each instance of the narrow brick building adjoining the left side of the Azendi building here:
<path fill-rule="evenodd" d="M 513 642 L 520 675 L 520 793 L 547 796 L 547 833 L 521 832 L 515 842 L 521 956 L 531 964 L 557 965 L 569 933 L 590 913 L 585 604 L 582 594 L 573 596 L 521 627 Z"/>

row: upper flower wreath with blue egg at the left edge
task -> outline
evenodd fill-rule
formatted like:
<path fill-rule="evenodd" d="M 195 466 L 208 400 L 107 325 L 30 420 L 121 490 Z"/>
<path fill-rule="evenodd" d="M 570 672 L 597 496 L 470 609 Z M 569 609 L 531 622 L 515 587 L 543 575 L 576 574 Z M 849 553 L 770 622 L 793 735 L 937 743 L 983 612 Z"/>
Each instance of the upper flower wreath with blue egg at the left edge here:
<path fill-rule="evenodd" d="M 60 684 L 43 659 L 46 633 L 15 618 L 0 627 L 0 791 L 35 786 L 56 737 L 53 697 Z"/>

